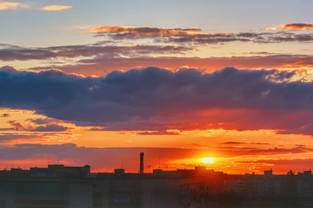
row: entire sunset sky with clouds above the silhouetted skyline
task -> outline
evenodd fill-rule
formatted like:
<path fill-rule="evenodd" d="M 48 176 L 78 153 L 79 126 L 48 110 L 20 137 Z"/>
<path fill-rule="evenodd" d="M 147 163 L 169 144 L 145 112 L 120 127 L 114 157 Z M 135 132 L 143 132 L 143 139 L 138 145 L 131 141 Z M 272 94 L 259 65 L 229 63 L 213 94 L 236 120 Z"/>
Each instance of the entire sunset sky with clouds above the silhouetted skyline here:
<path fill-rule="evenodd" d="M 0 1 L 0 169 L 313 168 L 312 8 Z"/>

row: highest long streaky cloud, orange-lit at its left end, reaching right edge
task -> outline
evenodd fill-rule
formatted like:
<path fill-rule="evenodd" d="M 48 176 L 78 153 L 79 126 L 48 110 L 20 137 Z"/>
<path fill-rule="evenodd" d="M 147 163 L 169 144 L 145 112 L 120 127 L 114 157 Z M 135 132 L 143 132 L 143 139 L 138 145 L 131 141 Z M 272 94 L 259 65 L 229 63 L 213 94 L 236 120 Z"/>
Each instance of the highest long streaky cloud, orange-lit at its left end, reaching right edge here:
<path fill-rule="evenodd" d="M 264 30 L 269 30 L 264 28 Z M 95 36 L 105 36 L 112 40 L 138 40 L 152 38 L 154 42 L 166 44 L 225 44 L 227 42 L 254 42 L 259 44 L 278 43 L 280 39 L 289 39 L 289 42 L 311 42 L 312 34 L 276 33 L 199 33 L 200 28 L 165 29 L 150 26 L 95 26 L 90 33 Z M 306 38 L 303 38 L 303 36 Z"/>

